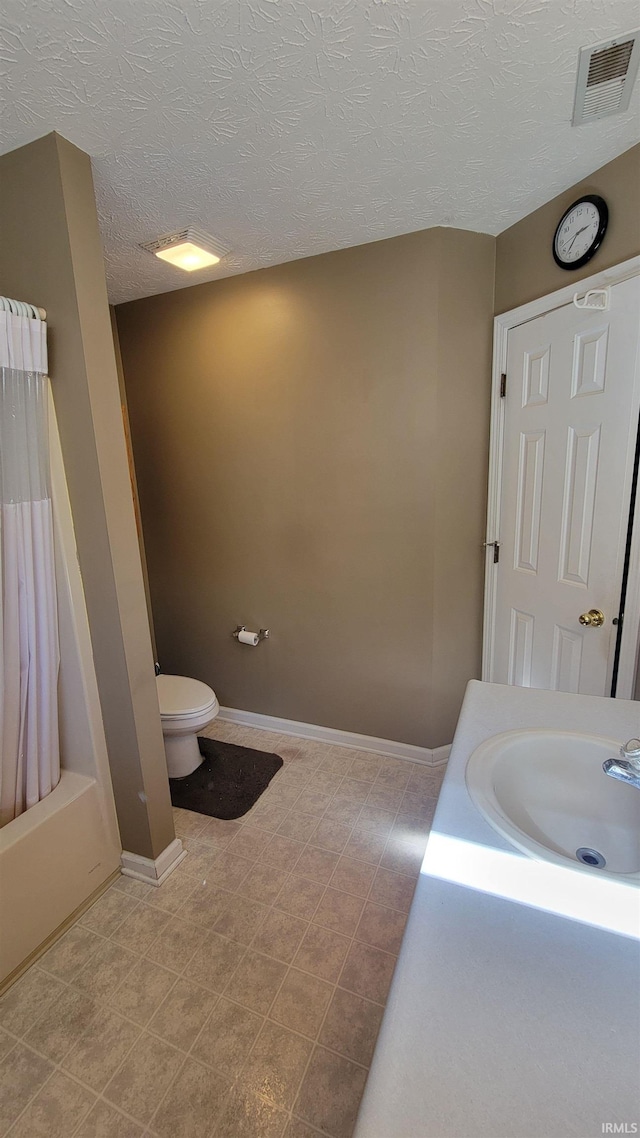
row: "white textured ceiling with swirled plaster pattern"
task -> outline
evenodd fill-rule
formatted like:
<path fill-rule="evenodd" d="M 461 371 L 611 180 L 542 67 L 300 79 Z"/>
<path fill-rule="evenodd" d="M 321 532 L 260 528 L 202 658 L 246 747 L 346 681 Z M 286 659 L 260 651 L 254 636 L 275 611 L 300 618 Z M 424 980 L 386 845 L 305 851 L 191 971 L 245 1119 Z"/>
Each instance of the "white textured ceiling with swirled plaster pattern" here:
<path fill-rule="evenodd" d="M 430 225 L 498 233 L 638 141 L 569 125 L 637 0 L 5 0 L 2 149 L 92 159 L 113 303 Z M 638 84 L 640 88 L 640 84 Z M 138 242 L 195 223 L 187 274 Z"/>

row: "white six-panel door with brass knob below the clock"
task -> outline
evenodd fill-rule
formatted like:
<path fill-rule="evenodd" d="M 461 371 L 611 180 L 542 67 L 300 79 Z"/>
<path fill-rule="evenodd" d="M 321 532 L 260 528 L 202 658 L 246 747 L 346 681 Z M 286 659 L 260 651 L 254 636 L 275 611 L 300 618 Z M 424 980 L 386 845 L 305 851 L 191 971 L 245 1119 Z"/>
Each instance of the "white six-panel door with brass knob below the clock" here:
<path fill-rule="evenodd" d="M 610 693 L 638 429 L 640 278 L 510 329 L 491 678 Z M 601 627 L 580 616 L 601 610 Z"/>

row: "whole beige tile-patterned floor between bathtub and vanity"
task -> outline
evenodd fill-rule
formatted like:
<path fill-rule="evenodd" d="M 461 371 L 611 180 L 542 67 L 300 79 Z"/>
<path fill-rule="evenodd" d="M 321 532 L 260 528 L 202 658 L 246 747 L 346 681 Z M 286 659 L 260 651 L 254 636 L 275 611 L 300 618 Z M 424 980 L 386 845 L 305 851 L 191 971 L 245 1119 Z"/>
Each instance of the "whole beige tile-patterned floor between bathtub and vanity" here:
<path fill-rule="evenodd" d="M 240 822 L 120 877 L 0 1000 L 0 1136 L 348 1138 L 442 772 L 213 724 L 278 751 Z"/>

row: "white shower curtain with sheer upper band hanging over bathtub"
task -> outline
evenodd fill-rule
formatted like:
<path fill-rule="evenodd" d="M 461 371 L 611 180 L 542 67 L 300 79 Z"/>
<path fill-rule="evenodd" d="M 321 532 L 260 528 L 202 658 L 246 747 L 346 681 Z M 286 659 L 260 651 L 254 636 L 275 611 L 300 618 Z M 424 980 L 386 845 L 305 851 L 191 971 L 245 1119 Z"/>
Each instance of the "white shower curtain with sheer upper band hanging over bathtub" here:
<path fill-rule="evenodd" d="M 0 311 L 0 826 L 60 777 L 47 325 Z"/>

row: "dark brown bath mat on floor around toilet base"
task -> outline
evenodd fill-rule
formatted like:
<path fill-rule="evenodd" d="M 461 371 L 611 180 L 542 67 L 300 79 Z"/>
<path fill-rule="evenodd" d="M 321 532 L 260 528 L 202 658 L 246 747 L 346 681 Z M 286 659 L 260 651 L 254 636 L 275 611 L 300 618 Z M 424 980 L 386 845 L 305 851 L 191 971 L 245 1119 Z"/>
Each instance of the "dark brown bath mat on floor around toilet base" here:
<path fill-rule="evenodd" d="M 198 735 L 203 756 L 186 778 L 170 778 L 171 801 L 212 818 L 241 818 L 282 766 L 278 754 Z"/>

